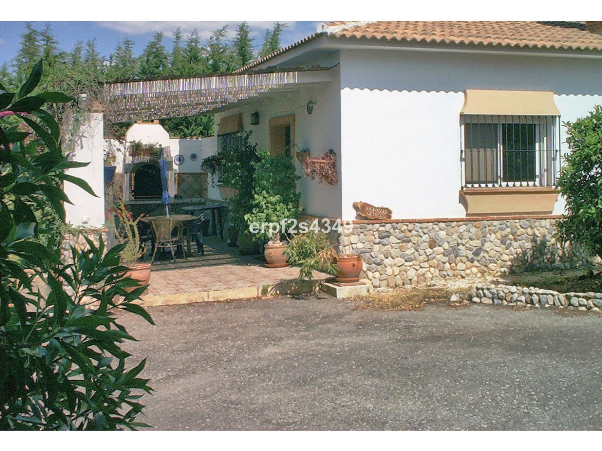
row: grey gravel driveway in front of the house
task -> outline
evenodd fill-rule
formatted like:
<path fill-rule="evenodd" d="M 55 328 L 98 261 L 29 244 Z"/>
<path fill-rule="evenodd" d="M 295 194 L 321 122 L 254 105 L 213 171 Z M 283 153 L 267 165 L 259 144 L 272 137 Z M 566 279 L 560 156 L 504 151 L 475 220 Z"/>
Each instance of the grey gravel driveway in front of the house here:
<path fill-rule="evenodd" d="M 602 315 L 327 296 L 126 314 L 156 429 L 602 429 Z"/>

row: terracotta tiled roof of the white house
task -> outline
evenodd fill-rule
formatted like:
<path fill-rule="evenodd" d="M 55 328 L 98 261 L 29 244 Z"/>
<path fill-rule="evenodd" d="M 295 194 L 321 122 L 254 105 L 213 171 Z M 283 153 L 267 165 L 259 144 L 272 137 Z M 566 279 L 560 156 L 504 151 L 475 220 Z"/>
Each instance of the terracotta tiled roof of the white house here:
<path fill-rule="evenodd" d="M 329 22 L 337 37 L 602 51 L 602 35 L 581 22 Z"/>

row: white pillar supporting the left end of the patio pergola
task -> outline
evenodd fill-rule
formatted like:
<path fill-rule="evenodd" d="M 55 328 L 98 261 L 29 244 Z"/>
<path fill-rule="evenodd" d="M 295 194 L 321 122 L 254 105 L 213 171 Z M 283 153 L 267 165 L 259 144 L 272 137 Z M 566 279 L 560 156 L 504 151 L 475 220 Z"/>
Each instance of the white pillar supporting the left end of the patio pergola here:
<path fill-rule="evenodd" d="M 86 227 L 105 224 L 104 186 L 104 117 L 102 112 L 89 112 L 76 141 L 73 161 L 90 162 L 86 167 L 67 171 L 84 179 L 98 197 L 85 192 L 73 183 L 64 182 L 64 192 L 72 204 L 65 203 L 67 223 Z"/>

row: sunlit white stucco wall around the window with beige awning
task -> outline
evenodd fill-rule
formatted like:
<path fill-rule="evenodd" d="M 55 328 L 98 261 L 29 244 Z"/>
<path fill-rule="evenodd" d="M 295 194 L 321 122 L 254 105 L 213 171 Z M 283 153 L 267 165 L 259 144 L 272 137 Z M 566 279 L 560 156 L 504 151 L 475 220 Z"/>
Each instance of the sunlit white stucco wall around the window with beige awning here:
<path fill-rule="evenodd" d="M 355 218 L 354 201 L 400 219 L 465 216 L 459 112 L 467 88 L 554 91 L 561 120 L 575 120 L 602 103 L 602 61 L 341 51 L 343 219 Z M 562 210 L 560 200 L 554 212 Z"/>

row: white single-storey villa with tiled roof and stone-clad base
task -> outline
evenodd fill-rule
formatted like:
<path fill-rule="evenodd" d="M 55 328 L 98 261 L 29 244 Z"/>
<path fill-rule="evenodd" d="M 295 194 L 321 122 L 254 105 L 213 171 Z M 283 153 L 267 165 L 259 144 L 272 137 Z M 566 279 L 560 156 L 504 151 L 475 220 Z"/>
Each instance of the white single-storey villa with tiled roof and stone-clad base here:
<path fill-rule="evenodd" d="M 585 261 L 552 238 L 564 211 L 554 183 L 568 152 L 562 123 L 602 104 L 602 22 L 323 23 L 212 79 L 114 86 L 112 118 L 157 119 L 158 106 L 135 104 L 161 96 L 166 115 L 213 112 L 216 137 L 161 138 L 184 157 L 180 172 L 200 172 L 247 131 L 270 153 L 290 152 L 300 176 L 297 153 L 332 149 L 338 183 L 302 177 L 302 206 L 355 221 L 341 241 L 364 256 L 374 286 Z M 90 115 L 77 159 L 93 164 L 77 171 L 102 193 L 103 114 Z M 75 199 L 68 219 L 101 226 L 104 200 Z M 391 219 L 356 217 L 358 201 Z"/>

